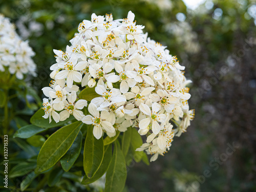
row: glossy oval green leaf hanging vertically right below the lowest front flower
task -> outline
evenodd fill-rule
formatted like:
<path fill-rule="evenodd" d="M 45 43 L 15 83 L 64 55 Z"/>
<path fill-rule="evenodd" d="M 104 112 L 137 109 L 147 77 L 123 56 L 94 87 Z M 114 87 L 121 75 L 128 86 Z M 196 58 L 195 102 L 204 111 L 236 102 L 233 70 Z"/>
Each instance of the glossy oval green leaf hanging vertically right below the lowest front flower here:
<path fill-rule="evenodd" d="M 83 169 L 88 178 L 92 178 L 97 172 L 103 155 L 103 138 L 96 139 L 93 135 L 93 126 L 89 126 L 83 151 Z"/>

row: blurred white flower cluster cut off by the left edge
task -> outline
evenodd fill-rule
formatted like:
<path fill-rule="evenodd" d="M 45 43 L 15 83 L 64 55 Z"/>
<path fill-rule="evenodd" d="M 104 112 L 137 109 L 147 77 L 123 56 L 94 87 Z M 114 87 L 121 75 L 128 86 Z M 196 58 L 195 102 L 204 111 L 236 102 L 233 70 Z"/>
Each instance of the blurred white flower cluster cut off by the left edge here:
<path fill-rule="evenodd" d="M 0 14 L 0 71 L 9 70 L 18 79 L 23 79 L 25 74 L 35 76 L 36 65 L 31 58 L 34 55 L 28 41 L 21 40 L 15 26 Z"/>

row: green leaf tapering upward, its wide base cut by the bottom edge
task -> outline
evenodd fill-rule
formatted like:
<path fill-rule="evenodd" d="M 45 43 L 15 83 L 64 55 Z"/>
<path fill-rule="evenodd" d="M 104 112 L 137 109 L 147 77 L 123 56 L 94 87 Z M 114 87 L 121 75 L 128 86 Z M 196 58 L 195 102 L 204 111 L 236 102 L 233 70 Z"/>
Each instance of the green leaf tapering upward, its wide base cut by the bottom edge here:
<path fill-rule="evenodd" d="M 113 157 L 106 171 L 105 192 L 120 192 L 123 190 L 127 177 L 126 163 L 120 144 L 116 140 Z"/>

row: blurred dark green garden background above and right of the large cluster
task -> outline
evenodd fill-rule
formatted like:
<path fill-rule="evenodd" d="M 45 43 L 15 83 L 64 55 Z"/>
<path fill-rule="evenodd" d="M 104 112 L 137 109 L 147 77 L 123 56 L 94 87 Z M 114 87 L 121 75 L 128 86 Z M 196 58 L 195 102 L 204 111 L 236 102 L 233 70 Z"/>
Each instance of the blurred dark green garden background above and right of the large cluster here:
<path fill-rule="evenodd" d="M 164 157 L 150 166 L 128 168 L 125 190 L 255 192 L 254 0 L 0 1 L 0 13 L 15 23 L 36 53 L 38 76 L 31 86 L 39 96 L 50 81 L 52 50 L 65 50 L 83 19 L 90 20 L 92 13 L 125 18 L 130 10 L 144 32 L 186 67 L 185 75 L 193 81 L 189 105 L 196 116 Z"/>

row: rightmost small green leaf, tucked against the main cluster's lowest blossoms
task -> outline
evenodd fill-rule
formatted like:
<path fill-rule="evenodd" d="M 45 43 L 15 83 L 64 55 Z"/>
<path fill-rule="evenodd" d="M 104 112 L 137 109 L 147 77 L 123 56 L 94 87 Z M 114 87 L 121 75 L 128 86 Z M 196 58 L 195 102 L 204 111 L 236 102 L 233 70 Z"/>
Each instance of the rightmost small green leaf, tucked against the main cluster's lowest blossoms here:
<path fill-rule="evenodd" d="M 143 144 L 143 141 L 140 134 L 134 127 L 131 127 L 130 129 L 132 129 L 131 147 L 133 151 L 133 156 L 134 160 L 138 163 L 141 161 L 144 152 L 136 152 L 135 150 Z"/>

